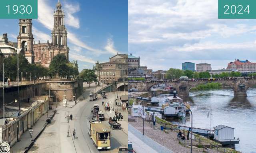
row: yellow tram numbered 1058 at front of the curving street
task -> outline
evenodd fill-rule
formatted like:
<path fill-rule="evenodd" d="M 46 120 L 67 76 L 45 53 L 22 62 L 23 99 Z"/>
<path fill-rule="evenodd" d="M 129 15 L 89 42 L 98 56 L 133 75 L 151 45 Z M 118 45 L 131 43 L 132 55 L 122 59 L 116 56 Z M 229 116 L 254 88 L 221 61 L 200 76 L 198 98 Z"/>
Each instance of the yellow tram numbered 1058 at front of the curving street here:
<path fill-rule="evenodd" d="M 90 122 L 89 135 L 97 149 L 110 149 L 110 130 L 104 124 L 101 122 Z"/>

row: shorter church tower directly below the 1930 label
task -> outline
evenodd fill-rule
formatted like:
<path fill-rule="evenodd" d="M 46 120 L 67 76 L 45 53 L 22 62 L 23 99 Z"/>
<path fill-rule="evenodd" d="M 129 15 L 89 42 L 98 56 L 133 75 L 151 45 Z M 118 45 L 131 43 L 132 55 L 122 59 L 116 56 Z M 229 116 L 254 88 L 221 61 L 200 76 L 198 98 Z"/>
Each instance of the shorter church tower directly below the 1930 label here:
<path fill-rule="evenodd" d="M 32 19 L 19 19 L 19 28 L 18 48 L 22 49 L 21 53 L 25 55 L 29 63 L 34 63 Z"/>

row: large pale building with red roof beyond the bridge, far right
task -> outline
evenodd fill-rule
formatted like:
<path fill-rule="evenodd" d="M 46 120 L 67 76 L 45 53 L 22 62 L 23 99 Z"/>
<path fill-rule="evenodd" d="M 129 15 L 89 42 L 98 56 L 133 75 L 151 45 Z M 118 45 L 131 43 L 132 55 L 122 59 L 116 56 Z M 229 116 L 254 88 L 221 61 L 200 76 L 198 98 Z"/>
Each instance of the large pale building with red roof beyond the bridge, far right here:
<path fill-rule="evenodd" d="M 234 62 L 228 63 L 228 70 L 237 70 L 238 72 L 256 72 L 256 63 L 251 63 L 247 59 L 240 61 L 237 59 Z"/>

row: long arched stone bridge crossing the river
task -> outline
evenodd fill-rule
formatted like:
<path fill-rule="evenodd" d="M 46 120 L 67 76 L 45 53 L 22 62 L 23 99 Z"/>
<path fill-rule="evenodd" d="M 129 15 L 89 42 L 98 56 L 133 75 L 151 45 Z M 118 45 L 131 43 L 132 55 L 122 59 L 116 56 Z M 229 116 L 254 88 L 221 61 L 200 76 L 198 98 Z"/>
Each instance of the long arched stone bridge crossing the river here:
<path fill-rule="evenodd" d="M 232 88 L 234 96 L 247 96 L 247 90 L 250 87 L 256 86 L 256 77 L 232 77 L 232 78 L 200 78 L 200 79 L 176 79 L 176 80 L 144 80 L 144 81 L 129 81 L 129 89 L 137 88 L 139 91 L 148 91 L 156 84 L 169 84 L 176 88 L 180 96 L 188 96 L 191 88 L 199 84 L 207 84 L 210 82 L 218 82 L 223 88 Z"/>

